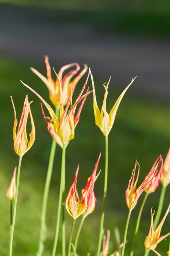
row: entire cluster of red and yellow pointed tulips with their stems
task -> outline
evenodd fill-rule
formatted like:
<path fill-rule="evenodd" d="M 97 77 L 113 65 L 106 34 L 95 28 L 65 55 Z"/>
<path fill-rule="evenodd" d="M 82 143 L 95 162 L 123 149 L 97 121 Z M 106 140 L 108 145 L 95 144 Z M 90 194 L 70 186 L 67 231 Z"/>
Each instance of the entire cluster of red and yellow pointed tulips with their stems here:
<path fill-rule="evenodd" d="M 59 72 L 55 72 L 55 79 L 53 80 L 52 74 L 51 74 L 51 66 L 49 64 L 49 58 L 48 56 L 45 56 L 45 64 L 46 64 L 46 73 L 47 78 L 40 74 L 37 70 L 35 70 L 33 67 L 31 67 L 31 70 L 33 73 L 35 73 L 46 85 L 46 87 L 49 90 L 49 99 L 51 100 L 51 103 L 55 107 L 55 110 L 43 99 L 43 97 L 38 94 L 35 90 L 33 90 L 29 85 L 26 85 L 23 83 L 26 88 L 31 90 L 41 101 L 41 110 L 42 110 L 42 116 L 44 118 L 44 121 L 46 123 L 46 128 L 51 134 L 53 138 L 52 146 L 51 146 L 51 154 L 50 154 L 50 160 L 49 160 L 49 168 L 47 171 L 47 177 L 46 177 L 46 183 L 44 188 L 44 197 L 43 197 L 43 205 L 42 205 L 42 215 L 41 215 L 41 227 L 40 227 L 40 240 L 39 240 L 39 247 L 38 247 L 38 256 L 43 255 L 44 250 L 44 243 L 46 240 L 46 209 L 47 209 L 47 201 L 48 201 L 48 194 L 49 194 L 49 188 L 50 188 L 50 182 L 51 182 L 51 175 L 53 170 L 53 162 L 54 162 L 54 156 L 55 156 L 55 146 L 56 143 L 62 148 L 62 164 L 61 164 L 61 179 L 60 179 L 60 193 L 59 193 L 59 200 L 58 200 L 58 207 L 57 207 L 57 223 L 56 223 L 56 231 L 55 231 L 55 237 L 54 237 L 54 245 L 53 245 L 53 252 L 52 256 L 55 256 L 56 249 L 57 249 L 57 242 L 59 237 L 59 230 L 60 230 L 60 217 L 62 216 L 62 255 L 66 255 L 66 226 L 65 226 L 65 214 L 64 211 L 67 211 L 68 214 L 73 218 L 73 225 L 71 228 L 71 235 L 70 240 L 68 243 L 68 256 L 71 255 L 77 255 L 77 241 L 79 238 L 79 234 L 84 222 L 84 219 L 93 211 L 95 210 L 97 199 L 95 197 L 94 193 L 94 185 L 95 182 L 101 172 L 101 170 L 97 173 L 97 168 L 99 165 L 99 161 L 101 158 L 101 153 L 99 154 L 99 157 L 97 159 L 97 162 L 95 164 L 95 168 L 93 169 L 93 172 L 90 177 L 88 177 L 86 186 L 84 189 L 82 189 L 81 198 L 79 197 L 78 191 L 77 191 L 77 176 L 79 172 L 79 165 L 77 167 L 77 170 L 75 171 L 75 175 L 73 177 L 73 183 L 68 191 L 68 194 L 66 195 L 65 199 L 65 184 L 66 184 L 66 146 L 68 143 L 75 137 L 75 128 L 79 122 L 80 114 L 82 112 L 82 108 L 84 106 L 84 103 L 88 97 L 88 95 L 92 92 L 89 90 L 89 87 L 87 87 L 89 76 L 91 75 L 91 81 L 92 81 L 92 88 L 93 88 L 93 110 L 94 110 L 94 116 L 95 116 L 95 124 L 100 128 L 103 135 L 105 136 L 106 143 L 105 143 L 105 171 L 104 171 L 104 193 L 103 193 L 103 205 L 102 205 L 102 214 L 101 214 L 101 220 L 100 220 L 100 227 L 99 227 L 99 240 L 97 245 L 97 253 L 96 256 L 108 256 L 110 255 L 110 249 L 109 249 L 109 241 L 110 241 L 110 231 L 107 230 L 107 236 L 104 235 L 104 215 L 105 215 L 105 204 L 106 204 L 106 195 L 107 195 L 107 181 L 108 181 L 108 135 L 110 133 L 110 130 L 113 127 L 115 116 L 117 114 L 117 110 L 119 107 L 119 104 L 124 97 L 124 94 L 132 84 L 132 82 L 135 79 L 132 79 L 130 84 L 123 90 L 123 92 L 118 97 L 117 101 L 115 102 L 113 108 L 110 110 L 110 113 L 106 111 L 106 100 L 108 96 L 108 85 L 110 83 L 110 79 L 108 83 L 105 85 L 105 93 L 104 93 L 104 100 L 102 104 L 102 109 L 99 110 L 96 100 L 96 92 L 95 92 L 95 83 L 93 81 L 93 75 L 91 73 L 91 70 L 89 69 L 87 78 L 84 85 L 82 86 L 82 89 L 79 92 L 79 95 L 75 102 L 73 103 L 73 93 L 75 90 L 75 87 L 79 80 L 82 78 L 82 76 L 86 73 L 88 70 L 88 67 L 86 64 L 84 64 L 84 68 L 82 71 L 78 63 L 71 63 L 68 65 L 65 65 L 60 69 Z M 87 88 L 86 88 L 87 87 Z M 13 141 L 14 141 L 14 150 L 19 155 L 19 164 L 18 168 L 15 167 L 13 172 L 13 177 L 11 180 L 11 184 L 7 190 L 7 198 L 10 200 L 11 204 L 11 223 L 10 223 L 10 245 L 9 245 L 9 256 L 12 256 L 12 247 L 13 247 L 13 234 L 14 234 L 14 227 L 15 227 L 15 218 L 16 218 L 16 208 L 17 208 L 17 198 L 18 198 L 18 188 L 19 188 L 19 179 L 20 179 L 20 168 L 21 168 L 21 162 L 22 157 L 24 154 L 33 146 L 33 143 L 35 141 L 35 126 L 33 121 L 33 116 L 31 113 L 30 104 L 32 103 L 28 101 L 28 96 L 26 95 L 26 98 L 24 100 L 24 106 L 22 110 L 22 115 L 20 118 L 20 123 L 18 126 L 18 120 L 16 117 L 16 111 L 15 106 L 13 103 L 13 98 L 11 96 L 11 101 L 13 105 L 14 110 L 14 125 L 13 125 Z M 79 108 L 78 108 L 79 104 Z M 46 116 L 43 106 L 46 107 L 47 111 L 49 112 L 49 116 Z M 77 111 L 76 111 L 77 109 Z M 29 133 L 30 139 L 28 139 L 27 135 L 27 121 L 30 118 L 31 121 L 31 132 Z M 18 129 L 17 129 L 18 126 Z M 56 142 L 56 143 L 55 143 Z M 149 169 L 148 169 L 149 170 Z M 137 171 L 137 177 L 135 176 Z M 16 180 L 16 173 L 17 173 L 17 180 Z M 168 151 L 168 154 L 166 156 L 166 159 L 163 163 L 163 159 L 161 155 L 157 157 L 155 162 L 153 163 L 152 167 L 150 168 L 150 171 L 144 178 L 143 182 L 137 187 L 137 183 L 139 180 L 139 163 L 135 162 L 135 167 L 133 168 L 132 175 L 130 177 L 128 188 L 125 192 L 125 198 L 126 198 L 126 204 L 129 209 L 128 218 L 126 222 L 126 228 L 124 233 L 124 240 L 123 243 L 121 243 L 120 235 L 116 234 L 115 236 L 117 238 L 117 249 L 113 250 L 112 254 L 110 256 L 124 256 L 125 252 L 125 246 L 128 242 L 126 240 L 126 236 L 128 233 L 128 224 L 130 221 L 130 215 L 132 213 L 132 210 L 137 205 L 137 202 L 139 200 L 139 197 L 143 192 L 145 192 L 144 200 L 141 204 L 141 208 L 139 210 L 139 215 L 137 219 L 137 225 L 135 229 L 135 235 L 134 240 L 132 243 L 132 249 L 130 252 L 130 256 L 133 256 L 134 248 L 135 248 L 135 239 L 137 236 L 137 232 L 139 229 L 139 222 L 141 218 L 141 213 L 144 208 L 144 204 L 146 202 L 146 198 L 150 193 L 154 193 L 161 181 L 162 186 L 162 192 L 160 196 L 160 202 L 159 207 L 157 210 L 157 214 L 155 217 L 155 220 L 153 218 L 155 211 L 152 213 L 151 209 L 151 224 L 150 224 L 150 230 L 148 233 L 148 236 L 146 236 L 144 247 L 146 250 L 146 254 L 148 254 L 148 251 L 152 250 L 157 255 L 160 256 L 160 254 L 155 250 L 158 243 L 160 243 L 164 238 L 170 235 L 170 232 L 164 236 L 160 236 L 161 229 L 163 226 L 163 223 L 166 219 L 166 216 L 168 215 L 170 211 L 170 204 L 168 206 L 168 209 L 162 218 L 160 220 L 161 211 L 163 207 L 163 201 L 164 201 L 164 195 L 166 192 L 166 187 L 168 184 L 170 184 L 170 149 Z M 13 201 L 14 201 L 14 208 L 13 208 Z M 62 213 L 62 214 L 61 214 Z M 75 220 L 82 216 L 82 221 L 79 225 L 77 236 L 75 239 L 75 243 L 72 243 L 73 238 L 73 229 L 75 225 Z M 159 223 L 159 225 L 158 225 Z M 116 232 L 115 232 L 116 233 Z M 118 232 L 119 233 L 119 232 Z M 102 241 L 103 241 L 103 249 L 102 248 Z M 71 254 L 71 245 L 73 247 L 73 254 Z M 101 252 L 102 251 L 102 252 Z M 89 254 L 87 254 L 89 255 Z M 168 251 L 168 255 L 170 256 L 170 250 Z"/>

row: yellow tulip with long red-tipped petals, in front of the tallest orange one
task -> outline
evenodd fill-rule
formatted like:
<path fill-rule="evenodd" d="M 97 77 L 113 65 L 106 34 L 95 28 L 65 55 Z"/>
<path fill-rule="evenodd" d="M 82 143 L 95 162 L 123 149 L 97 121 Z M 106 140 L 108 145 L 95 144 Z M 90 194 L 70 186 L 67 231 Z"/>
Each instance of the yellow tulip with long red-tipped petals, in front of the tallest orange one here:
<path fill-rule="evenodd" d="M 88 73 L 89 76 L 89 73 Z M 52 132 L 55 132 L 57 134 L 57 136 L 60 138 L 60 140 L 62 141 L 63 144 L 67 144 L 68 141 L 70 141 L 71 139 L 74 138 L 74 130 L 75 130 L 75 126 L 77 125 L 78 121 L 79 121 L 79 115 L 80 112 L 82 110 L 84 101 L 82 102 L 82 104 L 79 107 L 79 110 L 77 111 L 77 115 L 75 116 L 75 109 L 77 104 L 82 101 L 84 98 L 86 99 L 86 97 L 88 96 L 88 94 L 90 92 L 86 92 L 86 94 L 82 95 L 84 92 L 84 89 L 86 87 L 87 81 L 88 81 L 88 76 L 86 79 L 86 82 L 82 88 L 82 91 L 80 92 L 78 98 L 76 99 L 75 103 L 72 104 L 72 94 L 70 96 L 70 99 L 68 100 L 68 103 L 66 105 L 66 108 L 64 110 L 63 107 L 63 100 L 62 100 L 62 85 L 60 83 L 60 119 L 58 120 L 55 112 L 53 111 L 53 109 L 51 108 L 51 106 L 49 106 L 48 103 L 46 103 L 46 101 L 37 93 L 35 92 L 35 90 L 33 90 L 31 87 L 29 87 L 28 85 L 26 85 L 25 83 L 22 83 L 29 88 L 32 92 L 34 92 L 39 98 L 40 100 L 44 103 L 44 105 L 46 106 L 47 110 L 49 111 L 49 114 L 51 116 L 51 120 L 53 122 L 53 126 L 51 125 L 52 128 Z M 58 78 L 59 79 L 59 78 Z M 59 79 L 60 81 L 60 79 Z M 68 111 L 69 106 L 71 106 L 71 109 Z"/>

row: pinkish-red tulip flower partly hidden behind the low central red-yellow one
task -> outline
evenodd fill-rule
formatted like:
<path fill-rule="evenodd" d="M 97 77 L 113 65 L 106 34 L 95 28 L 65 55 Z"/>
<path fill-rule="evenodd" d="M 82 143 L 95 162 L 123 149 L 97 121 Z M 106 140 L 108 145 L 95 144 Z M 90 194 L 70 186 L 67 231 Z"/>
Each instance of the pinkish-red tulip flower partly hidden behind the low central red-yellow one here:
<path fill-rule="evenodd" d="M 97 162 L 95 164 L 95 168 L 93 170 L 93 173 L 92 173 L 91 177 L 89 177 L 88 180 L 87 180 L 87 184 L 86 184 L 85 189 L 82 189 L 82 200 L 85 200 L 88 188 L 89 188 L 89 186 L 91 186 L 91 184 L 93 184 L 91 186 L 90 191 L 89 191 L 88 200 L 87 200 L 87 210 L 83 213 L 84 217 L 88 216 L 88 214 L 90 214 L 90 213 L 93 213 L 93 211 L 95 210 L 95 205 L 96 205 L 97 200 L 95 198 L 95 193 L 93 191 L 94 190 L 94 185 L 95 185 L 93 183 L 93 181 L 96 178 L 96 171 L 97 171 L 97 167 L 99 165 L 100 157 L 101 157 L 101 153 L 99 154 L 99 157 L 97 159 Z"/>

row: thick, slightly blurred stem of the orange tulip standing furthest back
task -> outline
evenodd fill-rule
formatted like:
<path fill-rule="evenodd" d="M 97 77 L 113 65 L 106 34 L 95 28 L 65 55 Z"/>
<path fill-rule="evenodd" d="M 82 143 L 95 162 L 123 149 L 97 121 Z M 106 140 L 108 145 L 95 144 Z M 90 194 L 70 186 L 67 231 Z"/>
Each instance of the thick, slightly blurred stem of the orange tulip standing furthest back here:
<path fill-rule="evenodd" d="M 57 119 L 59 117 L 60 109 L 55 109 L 55 114 L 57 116 Z M 50 182 L 51 182 L 51 175 L 53 171 L 53 163 L 54 163 L 54 157 L 55 157 L 55 149 L 56 149 L 56 142 L 53 139 L 52 145 L 51 145 L 51 152 L 49 157 L 49 166 L 46 174 L 46 182 L 44 187 L 44 195 L 43 195 L 43 201 L 42 201 L 42 213 L 41 213 L 41 227 L 40 227 L 40 238 L 39 238 L 39 245 L 38 245 L 38 255 L 42 256 L 43 250 L 44 250 L 44 242 L 46 240 L 46 209 L 47 209 L 47 202 L 49 197 L 49 188 L 50 188 Z"/>

